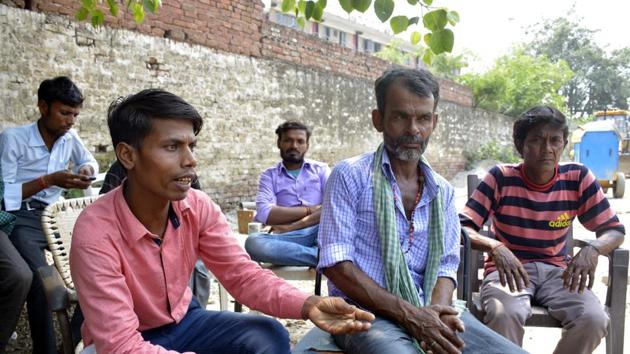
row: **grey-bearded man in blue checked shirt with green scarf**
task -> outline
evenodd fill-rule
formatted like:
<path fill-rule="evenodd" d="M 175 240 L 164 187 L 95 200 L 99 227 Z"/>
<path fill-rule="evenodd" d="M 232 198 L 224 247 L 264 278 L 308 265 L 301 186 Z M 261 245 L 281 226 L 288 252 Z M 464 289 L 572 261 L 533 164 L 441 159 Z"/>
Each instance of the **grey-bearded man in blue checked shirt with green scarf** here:
<path fill-rule="evenodd" d="M 393 69 L 375 84 L 376 152 L 340 162 L 328 179 L 318 268 L 331 296 L 377 315 L 364 333 L 334 336 L 346 353 L 522 353 L 451 306 L 460 226 L 453 188 L 423 157 L 438 115 L 426 70 Z"/>

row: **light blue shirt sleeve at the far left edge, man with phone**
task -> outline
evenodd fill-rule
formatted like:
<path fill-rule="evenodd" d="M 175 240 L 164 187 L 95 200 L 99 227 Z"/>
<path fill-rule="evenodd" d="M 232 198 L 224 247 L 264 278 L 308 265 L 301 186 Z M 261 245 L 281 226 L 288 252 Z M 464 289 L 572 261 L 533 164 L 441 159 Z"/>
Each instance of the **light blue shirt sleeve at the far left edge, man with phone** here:
<path fill-rule="evenodd" d="M 20 209 L 22 203 L 22 183 L 17 180 L 17 141 L 8 132 L 0 134 L 0 163 L 4 181 L 4 207 L 7 211 Z"/>

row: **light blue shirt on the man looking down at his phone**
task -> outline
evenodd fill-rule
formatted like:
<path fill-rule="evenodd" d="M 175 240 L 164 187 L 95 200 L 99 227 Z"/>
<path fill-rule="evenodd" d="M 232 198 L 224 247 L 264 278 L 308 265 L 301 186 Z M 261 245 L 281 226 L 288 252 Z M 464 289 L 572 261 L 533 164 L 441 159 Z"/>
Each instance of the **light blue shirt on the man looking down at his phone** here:
<path fill-rule="evenodd" d="M 98 173 L 98 163 L 85 148 L 74 129 L 61 136 L 48 151 L 39 133 L 37 122 L 9 128 L 0 134 L 0 163 L 4 181 L 4 206 L 7 211 L 20 209 L 22 184 L 43 175 L 67 169 L 77 173 L 85 165 Z M 52 203 L 59 199 L 63 188 L 51 186 L 32 195 L 29 199 Z"/>

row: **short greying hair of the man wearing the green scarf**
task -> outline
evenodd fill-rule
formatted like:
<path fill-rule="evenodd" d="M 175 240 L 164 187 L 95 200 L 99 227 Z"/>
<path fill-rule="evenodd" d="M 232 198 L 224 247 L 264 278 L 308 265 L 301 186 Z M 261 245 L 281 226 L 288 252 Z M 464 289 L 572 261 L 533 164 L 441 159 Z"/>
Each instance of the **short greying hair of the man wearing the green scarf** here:
<path fill-rule="evenodd" d="M 389 69 L 374 82 L 376 107 L 381 115 L 385 114 L 387 89 L 395 81 L 401 80 L 403 85 L 420 97 L 433 96 L 433 110 L 440 100 L 440 84 L 426 69 L 394 68 Z"/>

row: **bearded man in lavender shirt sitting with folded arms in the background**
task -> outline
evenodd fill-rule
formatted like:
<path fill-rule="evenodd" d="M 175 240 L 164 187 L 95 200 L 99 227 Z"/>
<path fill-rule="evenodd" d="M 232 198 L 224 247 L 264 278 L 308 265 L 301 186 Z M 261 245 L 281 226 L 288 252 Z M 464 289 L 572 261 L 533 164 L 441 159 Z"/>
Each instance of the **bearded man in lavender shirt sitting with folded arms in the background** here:
<path fill-rule="evenodd" d="M 282 161 L 260 175 L 256 220 L 273 233 L 251 235 L 245 249 L 253 260 L 277 265 L 317 265 L 317 232 L 328 165 L 305 159 L 310 129 L 284 122 L 276 129 Z"/>

